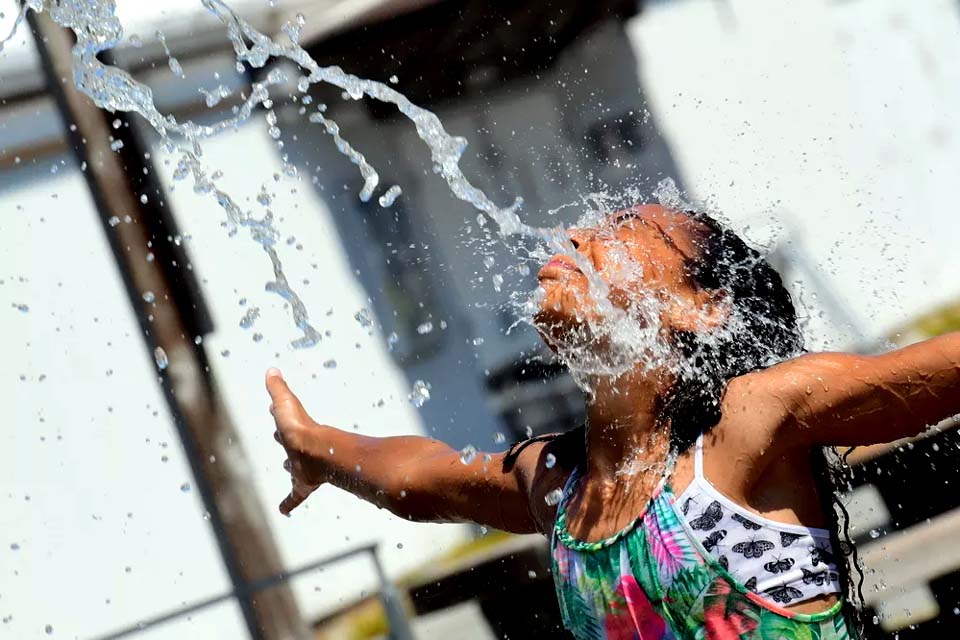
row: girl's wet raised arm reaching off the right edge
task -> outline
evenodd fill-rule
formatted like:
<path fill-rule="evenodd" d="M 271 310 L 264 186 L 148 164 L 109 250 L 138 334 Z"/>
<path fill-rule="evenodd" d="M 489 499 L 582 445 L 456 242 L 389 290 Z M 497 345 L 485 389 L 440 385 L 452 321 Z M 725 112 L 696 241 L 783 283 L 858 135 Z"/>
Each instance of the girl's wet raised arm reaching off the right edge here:
<path fill-rule="evenodd" d="M 768 372 L 783 428 L 809 444 L 892 442 L 960 414 L 960 332 L 876 356 L 811 354 Z"/>

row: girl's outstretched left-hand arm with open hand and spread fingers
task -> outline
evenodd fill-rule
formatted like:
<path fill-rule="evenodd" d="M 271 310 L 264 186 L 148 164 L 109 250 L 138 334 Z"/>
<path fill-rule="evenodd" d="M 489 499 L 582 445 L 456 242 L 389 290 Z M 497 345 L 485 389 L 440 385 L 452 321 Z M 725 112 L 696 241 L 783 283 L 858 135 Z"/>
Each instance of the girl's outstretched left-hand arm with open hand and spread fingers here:
<path fill-rule="evenodd" d="M 505 454 L 478 454 L 464 463 L 460 452 L 417 436 L 372 438 L 314 422 L 280 372 L 267 372 L 277 441 L 288 455 L 293 490 L 280 504 L 289 513 L 329 483 L 408 520 L 475 522 L 515 533 L 541 531 L 546 471 L 540 458 L 548 443 L 526 447 L 512 465 Z"/>

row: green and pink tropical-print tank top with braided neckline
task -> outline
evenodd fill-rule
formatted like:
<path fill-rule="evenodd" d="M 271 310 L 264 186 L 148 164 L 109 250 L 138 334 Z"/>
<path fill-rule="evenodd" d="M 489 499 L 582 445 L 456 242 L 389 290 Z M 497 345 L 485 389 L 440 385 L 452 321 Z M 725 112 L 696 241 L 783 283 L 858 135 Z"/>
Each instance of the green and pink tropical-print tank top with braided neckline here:
<path fill-rule="evenodd" d="M 794 613 L 749 591 L 689 531 L 666 481 L 619 533 L 583 542 L 567 531 L 571 475 L 557 509 L 553 575 L 577 640 L 854 640 L 842 600 Z"/>

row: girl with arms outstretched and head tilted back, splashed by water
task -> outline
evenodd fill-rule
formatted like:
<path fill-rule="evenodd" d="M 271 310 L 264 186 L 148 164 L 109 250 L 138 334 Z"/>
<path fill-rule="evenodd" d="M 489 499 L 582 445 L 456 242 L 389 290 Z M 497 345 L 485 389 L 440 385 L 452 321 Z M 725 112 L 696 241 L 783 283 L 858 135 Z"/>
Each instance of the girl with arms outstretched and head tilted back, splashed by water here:
<path fill-rule="evenodd" d="M 547 344 L 613 349 L 584 260 L 659 340 L 652 360 L 581 376 L 584 427 L 464 464 L 429 438 L 318 425 L 271 369 L 293 480 L 280 510 L 331 483 L 410 520 L 549 535 L 578 639 L 856 637 L 823 448 L 960 413 L 960 334 L 880 356 L 803 354 L 779 276 L 711 218 L 642 206 L 569 235 L 577 259 L 539 274 Z"/>

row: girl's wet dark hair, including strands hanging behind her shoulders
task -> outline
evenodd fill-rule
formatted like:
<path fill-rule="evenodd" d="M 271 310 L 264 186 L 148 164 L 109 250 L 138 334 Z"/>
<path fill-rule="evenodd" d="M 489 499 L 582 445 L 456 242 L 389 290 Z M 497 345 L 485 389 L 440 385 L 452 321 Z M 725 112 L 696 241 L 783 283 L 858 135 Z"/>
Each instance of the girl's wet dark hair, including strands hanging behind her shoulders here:
<path fill-rule="evenodd" d="M 701 433 L 720 422 L 721 403 L 730 380 L 804 353 L 796 307 L 776 269 L 759 251 L 714 218 L 697 211 L 685 213 L 697 223 L 694 243 L 698 248 L 696 255 L 686 256 L 687 275 L 701 289 L 723 291 L 735 309 L 736 321 L 726 330 L 712 332 L 709 340 L 696 332 L 673 333 L 675 347 L 695 372 L 681 374 L 661 399 L 660 418 L 665 425 L 669 421 L 670 445 L 677 453 L 686 451 Z M 660 231 L 665 241 L 676 247 L 669 234 Z M 585 462 L 584 427 L 532 441 L 548 439 L 553 440 L 551 450 L 561 464 L 573 468 Z M 524 445 L 532 441 L 515 445 L 505 464 L 512 465 Z M 873 625 L 866 624 L 862 606 L 863 570 L 856 548 L 850 543 L 849 518 L 837 493 L 838 486 L 849 482 L 844 475 L 848 472 L 845 465 L 838 464 L 833 447 L 815 447 L 811 457 L 833 548 L 843 556 L 837 559 L 837 569 L 848 596 L 844 615 L 856 636 L 866 638 Z M 853 589 L 851 569 L 859 576 Z"/>

